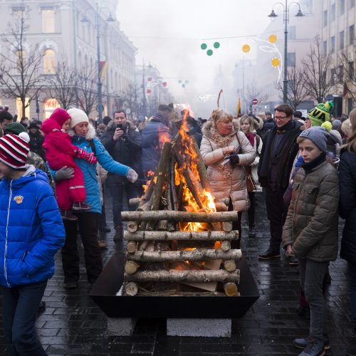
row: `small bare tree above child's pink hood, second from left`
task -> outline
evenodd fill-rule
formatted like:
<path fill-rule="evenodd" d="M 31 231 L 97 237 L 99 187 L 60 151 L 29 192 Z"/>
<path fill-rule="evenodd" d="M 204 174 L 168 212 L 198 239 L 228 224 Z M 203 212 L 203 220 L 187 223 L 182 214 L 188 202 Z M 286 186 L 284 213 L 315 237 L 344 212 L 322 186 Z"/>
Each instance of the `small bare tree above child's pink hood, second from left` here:
<path fill-rule="evenodd" d="M 58 63 L 56 73 L 49 80 L 50 94 L 56 98 L 61 107 L 68 110 L 71 106 L 78 103 L 78 73 L 68 66 L 65 58 Z"/>

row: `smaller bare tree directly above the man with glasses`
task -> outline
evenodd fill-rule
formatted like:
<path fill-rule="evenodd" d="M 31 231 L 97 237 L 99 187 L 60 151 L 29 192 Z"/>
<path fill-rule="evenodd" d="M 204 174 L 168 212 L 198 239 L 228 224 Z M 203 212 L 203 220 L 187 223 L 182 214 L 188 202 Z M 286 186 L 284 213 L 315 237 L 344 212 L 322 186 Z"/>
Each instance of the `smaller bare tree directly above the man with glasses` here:
<path fill-rule="evenodd" d="M 283 83 L 277 84 L 277 89 L 283 94 Z M 305 90 L 303 70 L 300 68 L 288 68 L 287 71 L 287 100 L 288 104 L 296 110 L 303 100 L 308 98 Z"/>

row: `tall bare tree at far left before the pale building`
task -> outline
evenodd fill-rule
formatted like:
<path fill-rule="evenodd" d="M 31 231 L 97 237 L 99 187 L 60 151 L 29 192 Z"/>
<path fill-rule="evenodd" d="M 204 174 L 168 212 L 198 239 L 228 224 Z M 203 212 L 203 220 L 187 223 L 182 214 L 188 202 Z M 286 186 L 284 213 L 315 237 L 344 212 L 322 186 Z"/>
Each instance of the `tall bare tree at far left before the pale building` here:
<path fill-rule="evenodd" d="M 32 100 L 36 100 L 38 91 L 43 87 L 43 80 L 39 75 L 42 66 L 43 52 L 38 46 L 27 51 L 25 6 L 17 11 L 16 19 L 9 25 L 9 34 L 4 35 L 2 41 L 4 48 L 10 51 L 0 52 L 0 85 L 6 98 L 20 98 L 22 103 L 22 116 Z M 12 51 L 11 51 L 12 50 Z"/>

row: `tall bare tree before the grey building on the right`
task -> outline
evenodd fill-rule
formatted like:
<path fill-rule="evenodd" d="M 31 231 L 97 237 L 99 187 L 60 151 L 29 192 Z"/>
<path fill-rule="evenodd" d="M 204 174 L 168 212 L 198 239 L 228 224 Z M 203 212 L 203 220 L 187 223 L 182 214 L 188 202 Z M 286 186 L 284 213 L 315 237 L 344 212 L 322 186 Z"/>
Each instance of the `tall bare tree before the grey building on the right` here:
<path fill-rule="evenodd" d="M 305 93 L 318 103 L 322 103 L 333 87 L 334 78 L 328 78 L 330 53 L 321 53 L 320 37 L 316 36 L 310 52 L 303 61 L 303 82 Z"/>

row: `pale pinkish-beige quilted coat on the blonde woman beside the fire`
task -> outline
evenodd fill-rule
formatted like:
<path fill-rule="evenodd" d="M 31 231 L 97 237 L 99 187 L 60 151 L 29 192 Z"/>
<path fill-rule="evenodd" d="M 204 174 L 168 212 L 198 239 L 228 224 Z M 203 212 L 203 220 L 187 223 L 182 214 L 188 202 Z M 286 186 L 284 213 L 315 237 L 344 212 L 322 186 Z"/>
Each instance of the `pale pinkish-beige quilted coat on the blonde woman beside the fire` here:
<path fill-rule="evenodd" d="M 234 129 L 229 136 L 225 137 L 219 134 L 211 122 L 206 122 L 203 127 L 200 152 L 204 163 L 208 166 L 211 194 L 216 199 L 231 198 L 234 210 L 245 211 L 249 207 L 249 201 L 243 166 L 248 166 L 253 162 L 256 158 L 256 151 L 253 150 L 245 134 L 238 130 L 237 122 L 233 122 Z M 234 167 L 230 163 L 221 165 L 226 159 L 223 148 L 229 145 L 241 147 L 239 164 Z"/>

